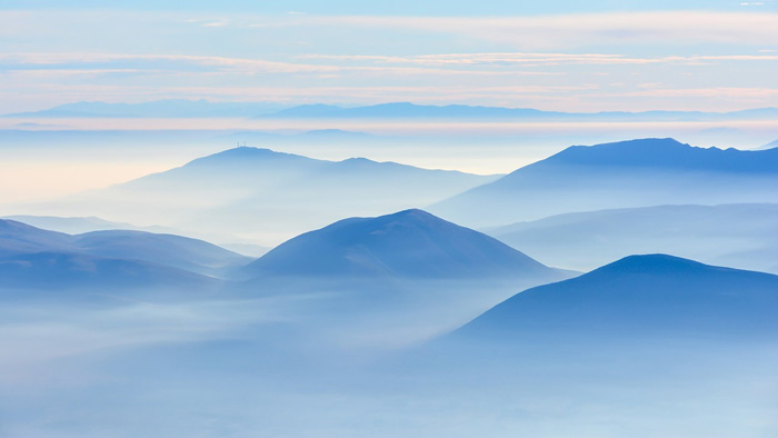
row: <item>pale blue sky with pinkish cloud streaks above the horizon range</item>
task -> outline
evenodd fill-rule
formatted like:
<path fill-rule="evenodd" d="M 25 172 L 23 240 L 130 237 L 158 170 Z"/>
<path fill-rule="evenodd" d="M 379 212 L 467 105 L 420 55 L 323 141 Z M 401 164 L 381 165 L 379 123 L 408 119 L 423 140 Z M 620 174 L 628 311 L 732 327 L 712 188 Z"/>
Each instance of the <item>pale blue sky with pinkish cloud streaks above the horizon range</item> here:
<path fill-rule="evenodd" d="M 778 107 L 778 0 L 4 0 L 0 22 L 0 113 L 171 98 Z"/>

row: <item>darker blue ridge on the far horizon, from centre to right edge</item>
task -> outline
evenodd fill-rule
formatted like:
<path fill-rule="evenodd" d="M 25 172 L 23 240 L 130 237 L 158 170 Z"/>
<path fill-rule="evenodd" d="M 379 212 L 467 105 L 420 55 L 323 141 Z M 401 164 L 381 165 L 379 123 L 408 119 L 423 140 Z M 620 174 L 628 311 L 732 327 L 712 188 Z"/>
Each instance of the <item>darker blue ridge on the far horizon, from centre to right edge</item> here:
<path fill-rule="evenodd" d="M 644 112 L 559 112 L 531 108 L 501 108 L 467 104 L 422 106 L 410 102 L 389 102 L 356 108 L 332 104 L 302 104 L 266 115 L 268 118 L 292 119 L 532 119 L 532 120 L 740 120 L 775 119 L 778 108 L 760 108 L 735 112 L 644 111 Z"/>

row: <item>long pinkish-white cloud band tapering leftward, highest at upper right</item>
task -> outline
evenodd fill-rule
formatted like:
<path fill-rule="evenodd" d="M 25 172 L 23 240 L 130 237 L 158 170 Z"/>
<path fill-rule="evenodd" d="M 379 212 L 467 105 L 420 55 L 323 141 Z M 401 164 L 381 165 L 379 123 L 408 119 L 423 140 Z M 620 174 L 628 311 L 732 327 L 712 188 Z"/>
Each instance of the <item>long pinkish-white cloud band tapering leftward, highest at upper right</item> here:
<path fill-rule="evenodd" d="M 543 17 L 310 17 L 277 26 L 410 29 L 523 48 L 590 44 L 762 44 L 778 39 L 778 13 L 635 12 Z"/>

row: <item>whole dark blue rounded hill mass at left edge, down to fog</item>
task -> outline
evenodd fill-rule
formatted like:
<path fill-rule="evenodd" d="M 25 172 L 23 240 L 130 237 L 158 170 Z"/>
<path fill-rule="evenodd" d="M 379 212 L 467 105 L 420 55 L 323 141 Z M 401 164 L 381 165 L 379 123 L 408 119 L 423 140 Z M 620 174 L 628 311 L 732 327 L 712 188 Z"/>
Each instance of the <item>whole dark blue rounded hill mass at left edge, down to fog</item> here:
<path fill-rule="evenodd" d="M 206 287 L 251 259 L 215 245 L 142 231 L 66 235 L 0 220 L 3 287 Z"/>

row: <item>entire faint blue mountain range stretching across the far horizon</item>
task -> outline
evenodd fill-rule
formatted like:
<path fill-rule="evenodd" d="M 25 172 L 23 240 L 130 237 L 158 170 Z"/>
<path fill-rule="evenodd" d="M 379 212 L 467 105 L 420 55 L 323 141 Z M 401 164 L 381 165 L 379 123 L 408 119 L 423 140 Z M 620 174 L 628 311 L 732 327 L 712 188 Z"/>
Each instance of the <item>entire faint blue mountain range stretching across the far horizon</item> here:
<path fill-rule="evenodd" d="M 356 108 L 333 104 L 301 104 L 291 107 L 272 102 L 209 102 L 206 100 L 159 100 L 144 103 L 76 102 L 54 108 L 4 117 L 270 117 L 292 119 L 529 119 L 529 120 L 748 120 L 776 119 L 778 108 L 759 108 L 732 112 L 704 111 L 604 111 L 560 112 L 531 108 L 502 108 L 466 104 L 422 106 L 409 102 L 389 102 Z"/>

